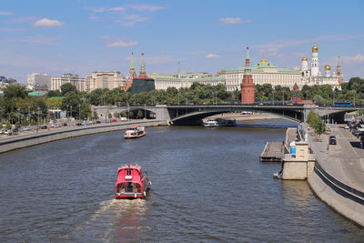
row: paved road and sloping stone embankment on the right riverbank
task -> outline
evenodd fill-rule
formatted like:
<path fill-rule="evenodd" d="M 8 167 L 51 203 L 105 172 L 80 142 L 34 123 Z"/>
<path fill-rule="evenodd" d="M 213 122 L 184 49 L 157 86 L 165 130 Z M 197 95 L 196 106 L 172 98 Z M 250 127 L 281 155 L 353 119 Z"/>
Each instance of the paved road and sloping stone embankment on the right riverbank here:
<path fill-rule="evenodd" d="M 316 156 L 314 173 L 308 184 L 315 194 L 342 216 L 364 227 L 364 149 L 359 138 L 338 126 L 320 141 L 308 132 L 313 154 Z M 335 136 L 337 145 L 329 145 Z"/>

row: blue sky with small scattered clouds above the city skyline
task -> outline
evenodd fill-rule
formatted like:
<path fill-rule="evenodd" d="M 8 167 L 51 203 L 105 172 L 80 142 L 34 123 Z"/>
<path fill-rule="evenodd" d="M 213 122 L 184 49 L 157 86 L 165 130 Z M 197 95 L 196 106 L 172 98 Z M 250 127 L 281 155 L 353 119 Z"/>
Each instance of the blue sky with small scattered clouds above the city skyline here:
<path fill-rule="evenodd" d="M 319 46 L 319 65 L 347 81 L 364 78 L 364 1 L 0 0 L 0 76 L 26 83 L 30 73 L 128 75 L 145 53 L 147 73 L 208 72 L 263 56 L 301 66 Z"/>

